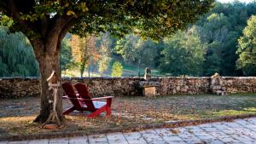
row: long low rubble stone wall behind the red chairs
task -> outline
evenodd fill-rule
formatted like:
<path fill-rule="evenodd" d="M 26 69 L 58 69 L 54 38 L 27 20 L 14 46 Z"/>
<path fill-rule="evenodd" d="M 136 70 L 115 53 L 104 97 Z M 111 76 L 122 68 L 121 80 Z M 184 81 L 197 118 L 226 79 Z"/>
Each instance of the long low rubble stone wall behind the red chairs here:
<path fill-rule="evenodd" d="M 228 93 L 256 92 L 255 77 L 224 77 Z M 40 95 L 39 78 L 0 78 L 0 98 Z M 62 78 L 62 82 L 89 84 L 91 95 L 141 95 L 137 87 L 140 78 Z M 211 92 L 210 77 L 152 78 L 159 82 L 158 95 L 204 94 Z"/>

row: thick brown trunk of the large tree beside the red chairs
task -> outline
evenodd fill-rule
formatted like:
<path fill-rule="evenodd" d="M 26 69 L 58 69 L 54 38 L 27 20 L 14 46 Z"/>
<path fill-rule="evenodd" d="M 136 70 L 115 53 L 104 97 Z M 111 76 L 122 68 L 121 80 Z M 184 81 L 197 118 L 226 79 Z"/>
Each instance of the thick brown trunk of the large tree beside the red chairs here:
<path fill-rule="evenodd" d="M 58 73 L 58 76 L 61 79 L 61 72 L 59 66 L 60 48 L 58 48 L 60 46 L 60 41 L 52 44 L 41 43 L 36 46 L 33 45 L 33 47 L 38 47 L 40 49 L 48 49 L 41 50 L 40 53 L 37 53 L 36 51 L 39 49 L 34 49 L 41 73 L 41 109 L 38 117 L 34 120 L 35 122 L 44 123 L 49 117 L 49 113 L 53 108 L 52 103 L 49 103 L 49 100 L 53 100 L 53 93 L 52 90 L 49 90 L 47 78 L 49 78 L 52 71 L 55 71 Z M 64 119 L 64 116 L 62 114 L 62 98 L 60 94 L 61 88 L 60 90 L 58 90 L 56 112 L 58 113 L 58 117 L 62 121 Z"/>

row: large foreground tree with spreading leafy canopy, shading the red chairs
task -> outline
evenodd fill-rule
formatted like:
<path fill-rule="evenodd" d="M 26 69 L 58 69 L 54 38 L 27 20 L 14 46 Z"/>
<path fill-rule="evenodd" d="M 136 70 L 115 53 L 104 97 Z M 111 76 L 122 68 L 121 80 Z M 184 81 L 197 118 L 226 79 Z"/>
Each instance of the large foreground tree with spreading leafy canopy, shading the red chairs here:
<path fill-rule="evenodd" d="M 1 17 L 4 21 L 13 20 L 10 32 L 23 32 L 38 60 L 42 91 L 41 111 L 36 121 L 44 122 L 49 116 L 51 94 L 46 79 L 52 70 L 60 72 L 61 40 L 68 31 L 79 35 L 108 31 L 118 36 L 136 32 L 160 38 L 197 20 L 199 14 L 211 8 L 213 1 L 1 0 Z M 63 119 L 61 96 L 56 110 Z"/>

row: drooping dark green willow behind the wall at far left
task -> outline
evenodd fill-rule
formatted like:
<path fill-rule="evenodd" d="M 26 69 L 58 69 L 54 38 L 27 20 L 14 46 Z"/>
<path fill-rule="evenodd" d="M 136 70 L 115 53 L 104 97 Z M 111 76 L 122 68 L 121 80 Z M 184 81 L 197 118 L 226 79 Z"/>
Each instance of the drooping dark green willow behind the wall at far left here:
<path fill-rule="evenodd" d="M 0 27 L 0 44 L 0 77 L 38 76 L 38 63 L 24 35 L 9 35 L 6 28 Z"/>

